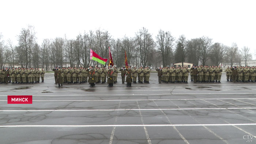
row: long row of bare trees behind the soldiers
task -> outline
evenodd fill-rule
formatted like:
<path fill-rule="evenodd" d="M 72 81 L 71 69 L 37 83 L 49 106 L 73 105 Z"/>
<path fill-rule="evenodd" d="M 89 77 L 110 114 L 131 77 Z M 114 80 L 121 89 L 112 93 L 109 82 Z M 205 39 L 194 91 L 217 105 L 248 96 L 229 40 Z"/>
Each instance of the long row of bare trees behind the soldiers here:
<path fill-rule="evenodd" d="M 124 51 L 127 52 L 128 64 L 137 67 L 165 67 L 185 61 L 195 65 L 222 64 L 225 67 L 226 64 L 241 64 L 241 61 L 246 64 L 252 57 L 248 47 L 239 50 L 236 43 L 226 46 L 213 43 L 208 37 L 187 40 L 184 35 L 176 39 L 170 31 L 163 30 L 153 38 L 144 27 L 134 37 L 114 39 L 108 31 L 98 29 L 78 34 L 75 39 L 67 39 L 66 36 L 44 39 L 40 45 L 34 27 L 28 26 L 20 31 L 17 40 L 18 45 L 14 46 L 10 39 L 3 41 L 0 35 L 0 68 L 18 65 L 49 70 L 55 66 L 98 66 L 98 62 L 90 60 L 90 49 L 102 58 L 108 58 L 109 47 L 117 67 L 124 66 Z"/>

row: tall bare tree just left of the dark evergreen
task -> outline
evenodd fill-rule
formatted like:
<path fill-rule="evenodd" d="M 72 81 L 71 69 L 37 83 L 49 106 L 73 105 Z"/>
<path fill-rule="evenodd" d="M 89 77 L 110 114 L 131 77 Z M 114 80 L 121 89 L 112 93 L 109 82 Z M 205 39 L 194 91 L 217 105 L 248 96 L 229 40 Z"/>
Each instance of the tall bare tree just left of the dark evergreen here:
<path fill-rule="evenodd" d="M 171 35 L 170 31 L 159 30 L 156 39 L 156 46 L 162 54 L 163 67 L 165 67 L 170 64 L 172 59 L 175 38 Z"/>

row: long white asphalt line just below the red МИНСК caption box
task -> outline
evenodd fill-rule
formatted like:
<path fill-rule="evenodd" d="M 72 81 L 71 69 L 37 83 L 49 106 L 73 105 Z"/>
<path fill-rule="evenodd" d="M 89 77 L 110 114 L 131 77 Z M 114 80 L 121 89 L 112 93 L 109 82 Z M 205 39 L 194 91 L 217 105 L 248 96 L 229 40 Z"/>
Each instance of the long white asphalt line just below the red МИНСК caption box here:
<path fill-rule="evenodd" d="M 217 105 L 216 105 L 217 106 Z M 95 109 L 95 110 L 0 110 L 1 111 L 118 111 L 118 110 L 231 110 L 256 109 L 256 107 L 230 107 L 230 108 L 180 108 L 180 109 Z"/>

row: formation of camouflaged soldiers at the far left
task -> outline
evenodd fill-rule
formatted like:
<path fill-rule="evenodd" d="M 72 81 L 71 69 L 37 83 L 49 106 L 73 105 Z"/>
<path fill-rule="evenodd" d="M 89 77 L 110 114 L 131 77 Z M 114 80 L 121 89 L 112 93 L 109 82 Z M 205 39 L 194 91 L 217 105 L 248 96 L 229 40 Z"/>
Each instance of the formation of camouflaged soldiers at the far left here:
<path fill-rule="evenodd" d="M 44 74 L 44 69 L 39 70 L 39 68 L 5 68 L 0 71 L 0 83 L 33 84 L 39 83 L 40 77 L 44 82 Z"/>

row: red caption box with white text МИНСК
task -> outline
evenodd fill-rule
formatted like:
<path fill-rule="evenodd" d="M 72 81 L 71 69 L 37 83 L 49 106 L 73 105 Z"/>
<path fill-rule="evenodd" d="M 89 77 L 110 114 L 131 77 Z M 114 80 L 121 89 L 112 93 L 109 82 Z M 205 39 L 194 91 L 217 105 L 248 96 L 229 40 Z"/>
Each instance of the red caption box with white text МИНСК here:
<path fill-rule="evenodd" d="M 8 95 L 8 104 L 32 104 L 32 95 Z"/>

